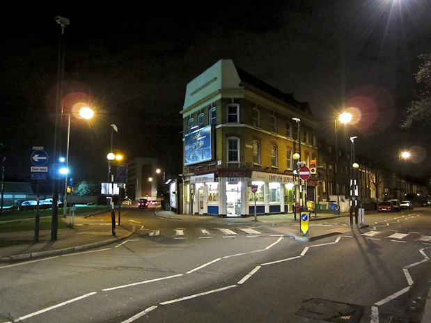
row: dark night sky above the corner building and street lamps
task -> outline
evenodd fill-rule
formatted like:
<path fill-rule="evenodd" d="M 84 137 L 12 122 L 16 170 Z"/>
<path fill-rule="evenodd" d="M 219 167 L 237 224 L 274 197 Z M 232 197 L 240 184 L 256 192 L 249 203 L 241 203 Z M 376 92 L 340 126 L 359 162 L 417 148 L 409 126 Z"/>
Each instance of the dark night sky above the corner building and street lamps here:
<path fill-rule="evenodd" d="M 361 112 L 347 132 L 356 152 L 398 171 L 398 151 L 415 148 L 404 171 L 429 171 L 428 133 L 401 131 L 413 99 L 418 55 L 431 44 L 429 0 L 143 1 L 88 7 L 10 3 L 0 13 L 0 143 L 6 179 L 29 178 L 31 148 L 53 155 L 61 26 L 65 28 L 63 107 L 86 100 L 91 121 L 72 118 L 75 182 L 107 179 L 114 150 L 157 157 L 180 173 L 187 83 L 219 59 L 308 102 L 319 138 L 334 143 L 334 119 Z M 338 139 L 339 142 L 343 138 Z M 65 134 L 62 135 L 65 150 Z"/>

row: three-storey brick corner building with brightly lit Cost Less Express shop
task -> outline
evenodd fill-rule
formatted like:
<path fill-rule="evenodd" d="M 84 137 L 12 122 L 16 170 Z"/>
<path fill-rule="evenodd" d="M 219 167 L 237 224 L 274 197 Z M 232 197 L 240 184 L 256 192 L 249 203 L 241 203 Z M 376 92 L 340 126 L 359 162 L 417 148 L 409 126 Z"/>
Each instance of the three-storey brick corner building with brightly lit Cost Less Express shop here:
<path fill-rule="evenodd" d="M 185 214 L 249 216 L 255 205 L 256 214 L 292 212 L 299 196 L 293 155 L 300 150 L 307 166 L 318 155 L 307 103 L 221 60 L 187 84 L 180 113 Z M 307 182 L 304 203 L 315 199 L 317 180 Z"/>

